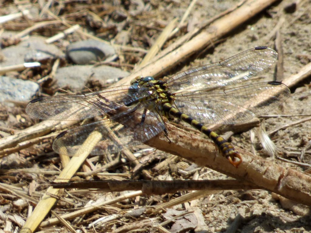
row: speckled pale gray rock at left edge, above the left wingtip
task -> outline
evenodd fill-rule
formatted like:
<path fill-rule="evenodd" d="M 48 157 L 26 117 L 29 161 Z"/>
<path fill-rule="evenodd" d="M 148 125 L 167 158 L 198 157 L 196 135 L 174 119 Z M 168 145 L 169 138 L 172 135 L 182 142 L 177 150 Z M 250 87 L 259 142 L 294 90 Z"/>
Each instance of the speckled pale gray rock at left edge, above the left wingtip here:
<path fill-rule="evenodd" d="M 35 82 L 0 76 L 1 102 L 4 100 L 29 101 L 38 91 L 39 85 Z"/>

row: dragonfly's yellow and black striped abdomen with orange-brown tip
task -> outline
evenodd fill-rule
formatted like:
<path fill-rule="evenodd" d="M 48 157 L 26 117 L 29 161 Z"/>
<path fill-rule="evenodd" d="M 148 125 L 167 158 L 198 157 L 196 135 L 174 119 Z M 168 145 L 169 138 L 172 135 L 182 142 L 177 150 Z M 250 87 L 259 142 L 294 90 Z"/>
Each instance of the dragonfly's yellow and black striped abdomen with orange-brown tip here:
<path fill-rule="evenodd" d="M 237 151 L 235 151 L 234 147 L 226 139 L 216 134 L 213 130 L 208 129 L 204 124 L 198 122 L 187 114 L 180 112 L 170 103 L 163 104 L 162 109 L 163 112 L 165 112 L 165 115 L 177 117 L 180 120 L 193 126 L 197 130 L 200 130 L 203 134 L 207 135 L 210 139 L 214 141 L 220 153 L 228 158 L 230 163 L 235 167 L 238 167 L 238 165 L 242 162 L 241 155 Z"/>

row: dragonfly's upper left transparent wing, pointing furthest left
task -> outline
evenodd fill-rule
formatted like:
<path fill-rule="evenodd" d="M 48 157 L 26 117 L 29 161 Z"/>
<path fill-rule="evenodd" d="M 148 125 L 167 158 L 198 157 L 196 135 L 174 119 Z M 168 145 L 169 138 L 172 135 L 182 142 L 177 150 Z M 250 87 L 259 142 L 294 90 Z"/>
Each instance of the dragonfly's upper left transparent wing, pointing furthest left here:
<path fill-rule="evenodd" d="M 150 95 L 149 88 L 141 87 L 129 92 L 130 87 L 125 85 L 88 94 L 39 97 L 28 103 L 26 112 L 45 120 L 81 120 L 100 114 L 112 115 L 117 109 Z"/>

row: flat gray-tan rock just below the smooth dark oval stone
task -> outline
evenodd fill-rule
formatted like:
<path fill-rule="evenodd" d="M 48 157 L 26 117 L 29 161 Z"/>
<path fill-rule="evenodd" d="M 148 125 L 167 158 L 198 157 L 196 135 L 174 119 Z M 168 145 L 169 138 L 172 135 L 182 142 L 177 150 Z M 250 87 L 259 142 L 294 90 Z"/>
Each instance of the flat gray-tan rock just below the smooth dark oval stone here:
<path fill-rule="evenodd" d="M 129 75 L 128 72 L 111 66 L 75 65 L 59 68 L 55 74 L 60 88 L 83 89 L 89 80 L 101 85 L 113 83 Z"/>

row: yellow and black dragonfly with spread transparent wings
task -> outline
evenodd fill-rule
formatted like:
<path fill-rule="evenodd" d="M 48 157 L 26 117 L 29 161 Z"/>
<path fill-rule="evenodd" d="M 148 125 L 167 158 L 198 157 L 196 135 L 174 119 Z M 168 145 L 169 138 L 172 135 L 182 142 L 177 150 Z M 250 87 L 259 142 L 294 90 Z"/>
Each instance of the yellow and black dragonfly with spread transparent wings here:
<path fill-rule="evenodd" d="M 168 80 L 137 77 L 128 85 L 87 94 L 35 98 L 26 112 L 46 120 L 82 120 L 102 115 L 99 121 L 63 131 L 55 138 L 53 150 L 70 156 L 93 131 L 102 137 L 90 148 L 92 155 L 117 153 L 166 132 L 165 119 L 178 118 L 207 135 L 220 154 L 237 167 L 242 162 L 239 152 L 207 125 L 242 123 L 284 102 L 290 90 L 281 82 L 236 86 L 267 69 L 276 59 L 276 51 L 260 46 L 182 71 Z"/>

